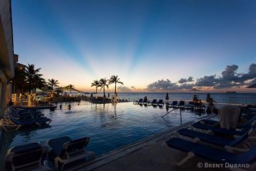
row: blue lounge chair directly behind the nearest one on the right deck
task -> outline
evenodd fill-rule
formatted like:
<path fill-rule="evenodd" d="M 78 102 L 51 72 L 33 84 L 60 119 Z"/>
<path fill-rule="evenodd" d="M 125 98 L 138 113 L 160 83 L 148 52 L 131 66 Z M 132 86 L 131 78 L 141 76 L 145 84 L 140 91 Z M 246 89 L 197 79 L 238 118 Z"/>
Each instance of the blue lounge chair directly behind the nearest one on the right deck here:
<path fill-rule="evenodd" d="M 252 130 L 253 129 L 251 129 L 251 131 Z M 242 143 L 242 141 L 248 137 L 248 135 L 251 133 L 251 131 L 247 130 L 247 132 L 245 132 L 243 135 L 237 137 L 236 139 L 228 139 L 225 137 L 218 137 L 215 135 L 204 134 L 204 133 L 186 129 L 186 128 L 178 130 L 177 132 L 179 135 L 184 135 L 186 137 L 190 137 L 195 140 L 204 141 L 206 143 L 211 143 L 211 144 L 215 144 L 215 145 L 224 147 L 226 145 L 235 146 L 235 145 L 238 145 L 239 143 Z"/>

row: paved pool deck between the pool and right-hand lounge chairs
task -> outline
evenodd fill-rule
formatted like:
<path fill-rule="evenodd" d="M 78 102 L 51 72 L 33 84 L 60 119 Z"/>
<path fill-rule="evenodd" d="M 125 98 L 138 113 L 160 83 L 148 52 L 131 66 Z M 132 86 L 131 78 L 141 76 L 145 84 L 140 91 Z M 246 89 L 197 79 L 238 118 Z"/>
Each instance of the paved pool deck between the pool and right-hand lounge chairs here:
<path fill-rule="evenodd" d="M 198 162 L 207 162 L 203 159 L 194 158 L 189 160 L 182 167 L 177 167 L 170 160 L 169 153 L 163 147 L 163 143 L 181 128 L 197 122 L 203 118 L 210 118 L 213 115 L 202 116 L 196 120 L 171 128 L 165 132 L 147 137 L 131 145 L 121 147 L 105 155 L 101 155 L 90 162 L 86 162 L 74 168 L 75 170 L 198 170 Z M 176 157 L 184 157 L 184 153 L 170 149 Z M 203 170 L 212 170 L 203 168 Z M 225 170 L 225 169 L 223 169 Z"/>

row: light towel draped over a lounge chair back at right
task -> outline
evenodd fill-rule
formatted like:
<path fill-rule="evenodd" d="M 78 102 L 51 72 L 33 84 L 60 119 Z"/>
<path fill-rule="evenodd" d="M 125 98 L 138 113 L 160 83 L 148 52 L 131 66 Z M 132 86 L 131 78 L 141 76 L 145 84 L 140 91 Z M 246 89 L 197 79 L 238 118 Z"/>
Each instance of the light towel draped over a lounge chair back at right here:
<path fill-rule="evenodd" d="M 240 115 L 240 108 L 231 105 L 224 105 L 218 109 L 220 128 L 236 128 Z"/>

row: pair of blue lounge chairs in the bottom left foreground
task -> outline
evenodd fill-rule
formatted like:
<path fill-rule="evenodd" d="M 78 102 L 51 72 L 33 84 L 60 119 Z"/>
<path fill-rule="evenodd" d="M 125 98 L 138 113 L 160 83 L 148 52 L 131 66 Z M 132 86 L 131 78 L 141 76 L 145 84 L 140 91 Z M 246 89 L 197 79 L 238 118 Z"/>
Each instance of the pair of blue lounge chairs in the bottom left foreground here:
<path fill-rule="evenodd" d="M 55 170 L 68 170 L 94 159 L 95 154 L 85 148 L 90 137 L 72 140 L 70 137 L 50 139 L 47 145 L 29 143 L 19 145 L 7 151 L 6 170 L 52 170 L 47 158 L 54 163 Z"/>

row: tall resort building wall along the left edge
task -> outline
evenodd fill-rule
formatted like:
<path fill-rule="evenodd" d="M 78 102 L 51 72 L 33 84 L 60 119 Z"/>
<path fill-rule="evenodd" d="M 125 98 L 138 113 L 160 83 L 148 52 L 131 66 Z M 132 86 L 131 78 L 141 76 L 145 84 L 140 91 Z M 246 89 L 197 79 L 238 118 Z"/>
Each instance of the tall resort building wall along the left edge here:
<path fill-rule="evenodd" d="M 14 76 L 18 55 L 13 52 L 13 24 L 11 1 L 0 1 L 0 108 L 6 107 L 11 98 L 11 78 Z"/>

